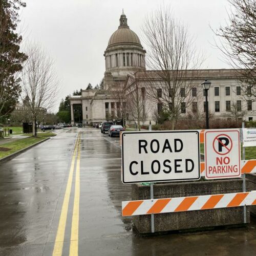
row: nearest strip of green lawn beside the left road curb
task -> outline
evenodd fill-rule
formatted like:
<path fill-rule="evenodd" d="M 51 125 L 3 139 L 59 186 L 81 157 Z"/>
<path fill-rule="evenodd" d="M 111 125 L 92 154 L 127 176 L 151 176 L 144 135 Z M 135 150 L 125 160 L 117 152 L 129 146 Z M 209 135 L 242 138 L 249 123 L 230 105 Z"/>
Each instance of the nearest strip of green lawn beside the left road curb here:
<path fill-rule="evenodd" d="M 30 146 L 38 141 L 44 140 L 46 137 L 29 137 L 20 140 L 15 140 L 13 142 L 1 144 L 0 147 L 10 148 L 9 151 L 0 150 L 0 158 L 8 156 L 16 151 L 22 150 L 23 148 Z"/>

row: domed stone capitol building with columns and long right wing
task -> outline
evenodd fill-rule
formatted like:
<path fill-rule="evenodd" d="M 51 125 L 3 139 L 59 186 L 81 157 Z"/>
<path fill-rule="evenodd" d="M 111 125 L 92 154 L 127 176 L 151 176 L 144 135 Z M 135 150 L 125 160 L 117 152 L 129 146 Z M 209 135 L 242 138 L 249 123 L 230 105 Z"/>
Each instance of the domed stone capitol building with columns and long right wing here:
<path fill-rule="evenodd" d="M 141 45 L 138 35 L 128 26 L 124 13 L 120 16 L 118 29 L 109 39 L 104 57 L 103 88 L 82 90 L 81 96 L 70 97 L 72 124 L 74 124 L 74 104 L 82 105 L 83 125 L 117 120 L 121 119 L 123 115 L 127 122 L 134 123 L 137 121 L 136 117 L 131 113 L 131 108 L 127 108 L 125 102 L 129 100 L 129 95 L 134 90 L 131 88 L 139 88 L 142 92 L 140 111 L 143 118 L 140 123 L 148 124 L 151 121 L 154 124 L 157 113 L 162 109 L 161 103 L 159 103 L 162 92 L 159 91 L 161 89 L 158 89 L 161 81 L 154 71 L 146 70 L 146 51 Z M 189 72 L 186 78 L 189 79 Z M 215 118 L 226 117 L 234 104 L 238 111 L 244 111 L 243 119 L 255 120 L 256 116 L 253 112 L 256 107 L 255 102 L 242 97 L 240 77 L 238 72 L 232 69 L 197 70 L 197 75 L 193 77 L 195 88 L 191 92 L 194 100 L 189 106 L 186 106 L 185 99 L 184 102 L 181 102 L 180 118 L 184 118 L 185 115 L 195 110 L 204 112 L 205 97 L 201 83 L 205 78 L 211 82 L 208 102 L 209 112 L 212 116 Z M 157 90 L 159 102 L 147 97 L 145 83 L 149 84 L 148 81 Z"/>

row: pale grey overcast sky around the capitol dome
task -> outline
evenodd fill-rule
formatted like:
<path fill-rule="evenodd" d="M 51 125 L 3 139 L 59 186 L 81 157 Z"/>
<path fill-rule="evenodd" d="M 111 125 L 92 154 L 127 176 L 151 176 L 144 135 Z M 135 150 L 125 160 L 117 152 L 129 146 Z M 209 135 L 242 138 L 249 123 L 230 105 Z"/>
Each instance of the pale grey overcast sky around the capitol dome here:
<path fill-rule="evenodd" d="M 54 112 L 61 98 L 76 89 L 93 87 L 103 78 L 103 53 L 112 33 L 119 26 L 124 9 L 130 29 L 142 34 L 145 16 L 161 3 L 172 7 L 177 19 L 188 25 L 196 37 L 199 50 L 206 55 L 202 68 L 228 68 L 221 53 L 212 46 L 216 29 L 225 24 L 227 0 L 24 0 L 20 27 L 24 40 L 36 40 L 45 47 L 55 61 L 60 79 L 60 93 L 56 97 Z M 146 49 L 145 49 L 146 50 Z"/>

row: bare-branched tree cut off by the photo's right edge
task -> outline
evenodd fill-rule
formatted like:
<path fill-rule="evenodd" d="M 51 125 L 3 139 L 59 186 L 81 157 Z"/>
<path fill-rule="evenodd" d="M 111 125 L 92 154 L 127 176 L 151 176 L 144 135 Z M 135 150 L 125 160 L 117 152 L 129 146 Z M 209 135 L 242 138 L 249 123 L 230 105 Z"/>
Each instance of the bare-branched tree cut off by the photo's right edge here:
<path fill-rule="evenodd" d="M 256 100 L 256 0 L 228 0 L 228 22 L 215 32 L 225 61 L 242 77 L 242 94 Z"/>

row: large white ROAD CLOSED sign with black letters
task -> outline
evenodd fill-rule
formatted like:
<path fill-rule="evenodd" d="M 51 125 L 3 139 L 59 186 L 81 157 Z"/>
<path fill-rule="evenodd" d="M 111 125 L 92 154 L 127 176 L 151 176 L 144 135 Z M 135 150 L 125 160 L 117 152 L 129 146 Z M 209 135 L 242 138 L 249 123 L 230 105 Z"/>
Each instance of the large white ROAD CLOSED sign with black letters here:
<path fill-rule="evenodd" d="M 122 133 L 123 183 L 198 179 L 198 131 Z"/>

